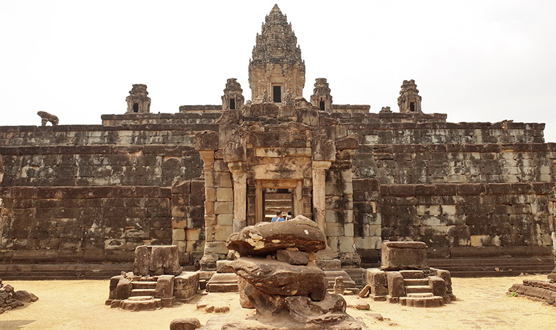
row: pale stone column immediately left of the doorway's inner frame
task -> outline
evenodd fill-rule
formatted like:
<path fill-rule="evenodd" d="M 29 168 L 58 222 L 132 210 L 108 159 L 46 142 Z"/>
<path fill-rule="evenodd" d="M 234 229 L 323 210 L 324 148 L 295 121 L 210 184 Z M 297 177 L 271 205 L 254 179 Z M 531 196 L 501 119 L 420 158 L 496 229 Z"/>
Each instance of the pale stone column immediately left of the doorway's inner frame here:
<path fill-rule="evenodd" d="M 247 172 L 244 162 L 228 163 L 233 177 L 233 232 L 247 225 Z"/>

